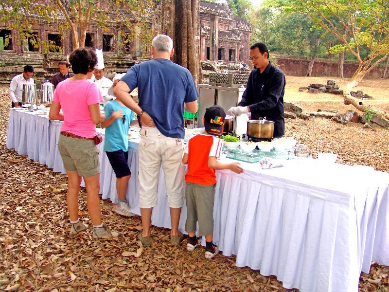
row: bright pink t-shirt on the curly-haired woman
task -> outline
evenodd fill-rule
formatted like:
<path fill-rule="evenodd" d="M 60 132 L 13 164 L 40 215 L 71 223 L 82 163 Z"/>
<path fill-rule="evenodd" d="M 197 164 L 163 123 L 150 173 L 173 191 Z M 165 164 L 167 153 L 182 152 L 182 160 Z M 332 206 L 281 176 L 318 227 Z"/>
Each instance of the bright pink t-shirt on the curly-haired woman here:
<path fill-rule="evenodd" d="M 53 101 L 59 102 L 64 113 L 61 131 L 70 131 L 86 138 L 94 137 L 96 125 L 92 122 L 88 105 L 103 102 L 96 84 L 85 79 L 66 79 L 55 88 Z"/>

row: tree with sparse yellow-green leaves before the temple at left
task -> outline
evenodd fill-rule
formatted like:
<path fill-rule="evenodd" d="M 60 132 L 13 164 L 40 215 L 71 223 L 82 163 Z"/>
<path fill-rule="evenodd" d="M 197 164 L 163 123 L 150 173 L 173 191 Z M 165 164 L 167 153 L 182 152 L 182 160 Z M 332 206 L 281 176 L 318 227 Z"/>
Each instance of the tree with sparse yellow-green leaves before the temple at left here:
<path fill-rule="evenodd" d="M 150 40 L 150 13 L 153 0 L 0 0 L 1 24 L 38 44 L 33 25 L 41 20 L 56 24 L 61 33 L 71 31 L 72 49 L 83 47 L 91 21 L 102 26 L 116 26 L 123 45 L 138 33 L 143 42 Z"/>

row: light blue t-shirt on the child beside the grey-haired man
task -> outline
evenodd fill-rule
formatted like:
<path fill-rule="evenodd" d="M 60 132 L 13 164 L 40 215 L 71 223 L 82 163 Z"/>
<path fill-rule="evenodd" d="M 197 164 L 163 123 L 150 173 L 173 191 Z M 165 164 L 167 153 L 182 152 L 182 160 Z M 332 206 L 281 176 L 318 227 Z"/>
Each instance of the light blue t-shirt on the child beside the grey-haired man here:
<path fill-rule="evenodd" d="M 135 120 L 134 112 L 120 105 L 116 100 L 111 100 L 104 106 L 106 119 L 111 117 L 112 111 L 117 110 L 123 110 L 123 118 L 116 119 L 111 126 L 106 128 L 104 139 L 104 151 L 106 152 L 128 151 L 128 129 L 130 128 L 130 122 Z"/>

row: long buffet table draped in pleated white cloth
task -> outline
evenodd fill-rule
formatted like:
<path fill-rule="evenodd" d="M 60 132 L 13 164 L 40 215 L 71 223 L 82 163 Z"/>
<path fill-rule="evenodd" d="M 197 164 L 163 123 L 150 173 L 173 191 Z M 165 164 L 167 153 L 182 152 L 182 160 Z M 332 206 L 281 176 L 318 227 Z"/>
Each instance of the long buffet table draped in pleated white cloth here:
<path fill-rule="evenodd" d="M 61 123 L 11 109 L 7 147 L 65 173 L 56 146 Z M 129 147 L 128 201 L 139 215 L 138 139 Z M 214 242 L 223 255 L 236 255 L 236 266 L 276 275 L 284 288 L 357 291 L 371 261 L 389 265 L 389 173 L 316 159 L 282 163 L 267 170 L 241 163 L 240 175 L 216 172 Z M 103 199 L 116 202 L 116 178 L 102 151 L 100 165 Z M 152 223 L 170 228 L 162 171 L 158 196 Z M 182 232 L 185 219 L 184 206 Z"/>

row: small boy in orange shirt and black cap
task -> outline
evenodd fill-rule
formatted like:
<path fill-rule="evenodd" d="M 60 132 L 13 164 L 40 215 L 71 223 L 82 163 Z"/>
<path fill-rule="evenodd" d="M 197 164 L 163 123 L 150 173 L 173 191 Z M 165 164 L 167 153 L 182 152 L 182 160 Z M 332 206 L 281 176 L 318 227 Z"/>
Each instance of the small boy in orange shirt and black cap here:
<path fill-rule="evenodd" d="M 203 122 L 205 131 L 193 136 L 188 141 L 182 158 L 183 164 L 188 164 L 185 175 L 185 200 L 188 216 L 185 231 L 188 232 L 186 249 L 193 251 L 200 245 L 196 237 L 196 222 L 199 235 L 205 236 L 205 257 L 212 258 L 219 252 L 213 244 L 213 201 L 215 195 L 215 169 L 231 169 L 242 173 L 239 163 L 224 164 L 216 159 L 220 157 L 223 140 L 215 137 L 223 134 L 223 124 L 226 113 L 220 106 L 212 106 L 205 111 Z"/>

